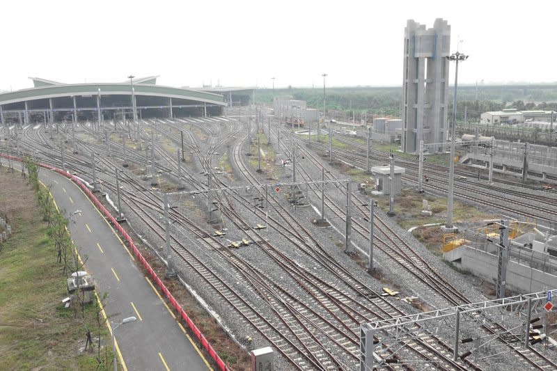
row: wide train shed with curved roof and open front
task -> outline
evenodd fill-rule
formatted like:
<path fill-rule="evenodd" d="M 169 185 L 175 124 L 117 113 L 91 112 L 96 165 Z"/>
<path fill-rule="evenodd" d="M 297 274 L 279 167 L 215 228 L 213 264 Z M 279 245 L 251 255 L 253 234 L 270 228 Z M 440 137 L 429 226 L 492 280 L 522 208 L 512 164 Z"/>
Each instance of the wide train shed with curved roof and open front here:
<path fill-rule="evenodd" d="M 218 116 L 221 94 L 157 85 L 157 76 L 121 83 L 62 84 L 31 77 L 34 87 L 0 94 L 0 125 Z"/>

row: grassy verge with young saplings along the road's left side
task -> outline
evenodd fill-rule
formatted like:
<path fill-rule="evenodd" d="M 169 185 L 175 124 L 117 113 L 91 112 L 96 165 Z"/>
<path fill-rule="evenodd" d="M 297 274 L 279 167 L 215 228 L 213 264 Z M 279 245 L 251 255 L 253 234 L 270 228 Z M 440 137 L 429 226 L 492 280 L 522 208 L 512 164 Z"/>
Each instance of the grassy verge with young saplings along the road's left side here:
<path fill-rule="evenodd" d="M 27 159 L 26 168 L 24 178 L 0 167 L 0 213 L 13 226 L 0 251 L 0 370 L 108 370 L 113 356 L 99 303 L 85 304 L 82 294 L 70 308 L 62 303 L 67 278 L 83 266 L 67 220 L 38 182 L 38 166 Z"/>

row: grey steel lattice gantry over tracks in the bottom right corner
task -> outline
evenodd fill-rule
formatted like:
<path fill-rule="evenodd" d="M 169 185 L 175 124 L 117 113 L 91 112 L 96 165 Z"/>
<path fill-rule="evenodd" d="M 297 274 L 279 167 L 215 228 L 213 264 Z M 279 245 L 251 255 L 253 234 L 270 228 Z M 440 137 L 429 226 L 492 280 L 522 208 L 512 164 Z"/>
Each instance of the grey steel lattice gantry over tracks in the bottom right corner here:
<path fill-rule="evenodd" d="M 498 352 L 483 352 L 486 348 L 505 346 L 495 344 L 499 338 L 506 338 L 513 347 L 524 349 L 531 345 L 528 340 L 532 340 L 534 344 L 539 342 L 540 338 L 542 340 L 545 338 L 531 332 L 531 324 L 540 320 L 533 315 L 542 312 L 555 294 L 557 289 L 361 324 L 360 371 L 370 371 L 391 363 L 415 364 L 418 361 L 405 358 L 405 345 L 418 340 L 421 336 L 439 332 L 452 333 L 453 361 L 459 358 L 464 361 L 471 354 L 474 354 L 477 359 L 478 356 L 488 358 L 509 352 L 510 348 Z M 510 317 L 515 317 L 514 321 L 508 321 L 510 326 L 498 325 L 505 322 L 505 318 L 510 319 Z M 480 331 L 480 327 L 485 326 L 489 326 L 491 333 Z M 544 327 L 547 329 L 547 326 Z M 465 349 L 460 349 L 461 345 Z M 389 349 L 388 357 L 384 355 L 384 349 Z"/>

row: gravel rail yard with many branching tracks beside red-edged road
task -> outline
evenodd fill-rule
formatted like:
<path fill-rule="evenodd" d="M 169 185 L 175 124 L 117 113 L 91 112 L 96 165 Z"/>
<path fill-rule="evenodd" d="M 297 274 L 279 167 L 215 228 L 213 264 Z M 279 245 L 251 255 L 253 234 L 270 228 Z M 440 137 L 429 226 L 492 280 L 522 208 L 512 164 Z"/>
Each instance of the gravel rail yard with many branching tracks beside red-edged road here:
<path fill-rule="evenodd" d="M 375 207 L 373 219 L 375 270 L 366 270 L 370 197 L 385 205 L 388 196 L 371 196 L 355 184 L 370 188 L 366 166 L 389 164 L 389 153 L 373 143 L 366 158 L 362 137 L 336 135 L 329 154 L 327 136 L 295 134 L 263 106 L 100 127 L 6 125 L 0 137 L 0 152 L 63 168 L 98 189 L 98 197 L 118 200 L 135 238 L 168 260 L 166 209 L 170 273 L 246 352 L 272 347 L 276 370 L 357 370 L 361 324 L 492 299 L 478 289 L 478 278 L 446 264 L 384 207 Z M 405 192 L 418 194 L 418 161 L 397 152 L 394 158 L 405 168 Z M 427 197 L 446 198 L 447 169 L 425 162 Z M 455 198 L 495 219 L 557 225 L 555 189 L 501 175 L 488 184 L 486 174 L 458 167 Z M 475 320 L 469 336 L 489 339 L 490 346 L 473 356 L 455 361 L 453 333 L 438 326 L 395 348 L 376 347 L 377 367 L 557 369 L 555 347 L 524 347 L 520 330 L 512 330 L 521 318 Z"/>

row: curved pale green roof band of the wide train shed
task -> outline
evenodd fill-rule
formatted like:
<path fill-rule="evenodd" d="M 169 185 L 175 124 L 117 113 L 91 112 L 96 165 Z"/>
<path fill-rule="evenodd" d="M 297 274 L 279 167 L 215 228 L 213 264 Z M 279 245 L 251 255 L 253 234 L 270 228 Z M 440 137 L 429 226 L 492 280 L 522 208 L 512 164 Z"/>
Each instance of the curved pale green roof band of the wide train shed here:
<path fill-rule="evenodd" d="M 219 94 L 207 93 L 198 90 L 172 88 L 170 86 L 158 86 L 151 84 L 133 84 L 135 95 L 151 95 L 158 97 L 173 97 L 184 100 L 196 100 L 210 104 L 226 106 L 224 97 Z M 54 97 L 67 97 L 74 95 L 131 95 L 131 84 L 64 84 L 46 85 L 36 88 L 17 90 L 10 93 L 0 94 L 0 104 L 24 102 L 26 100 L 38 100 Z"/>

